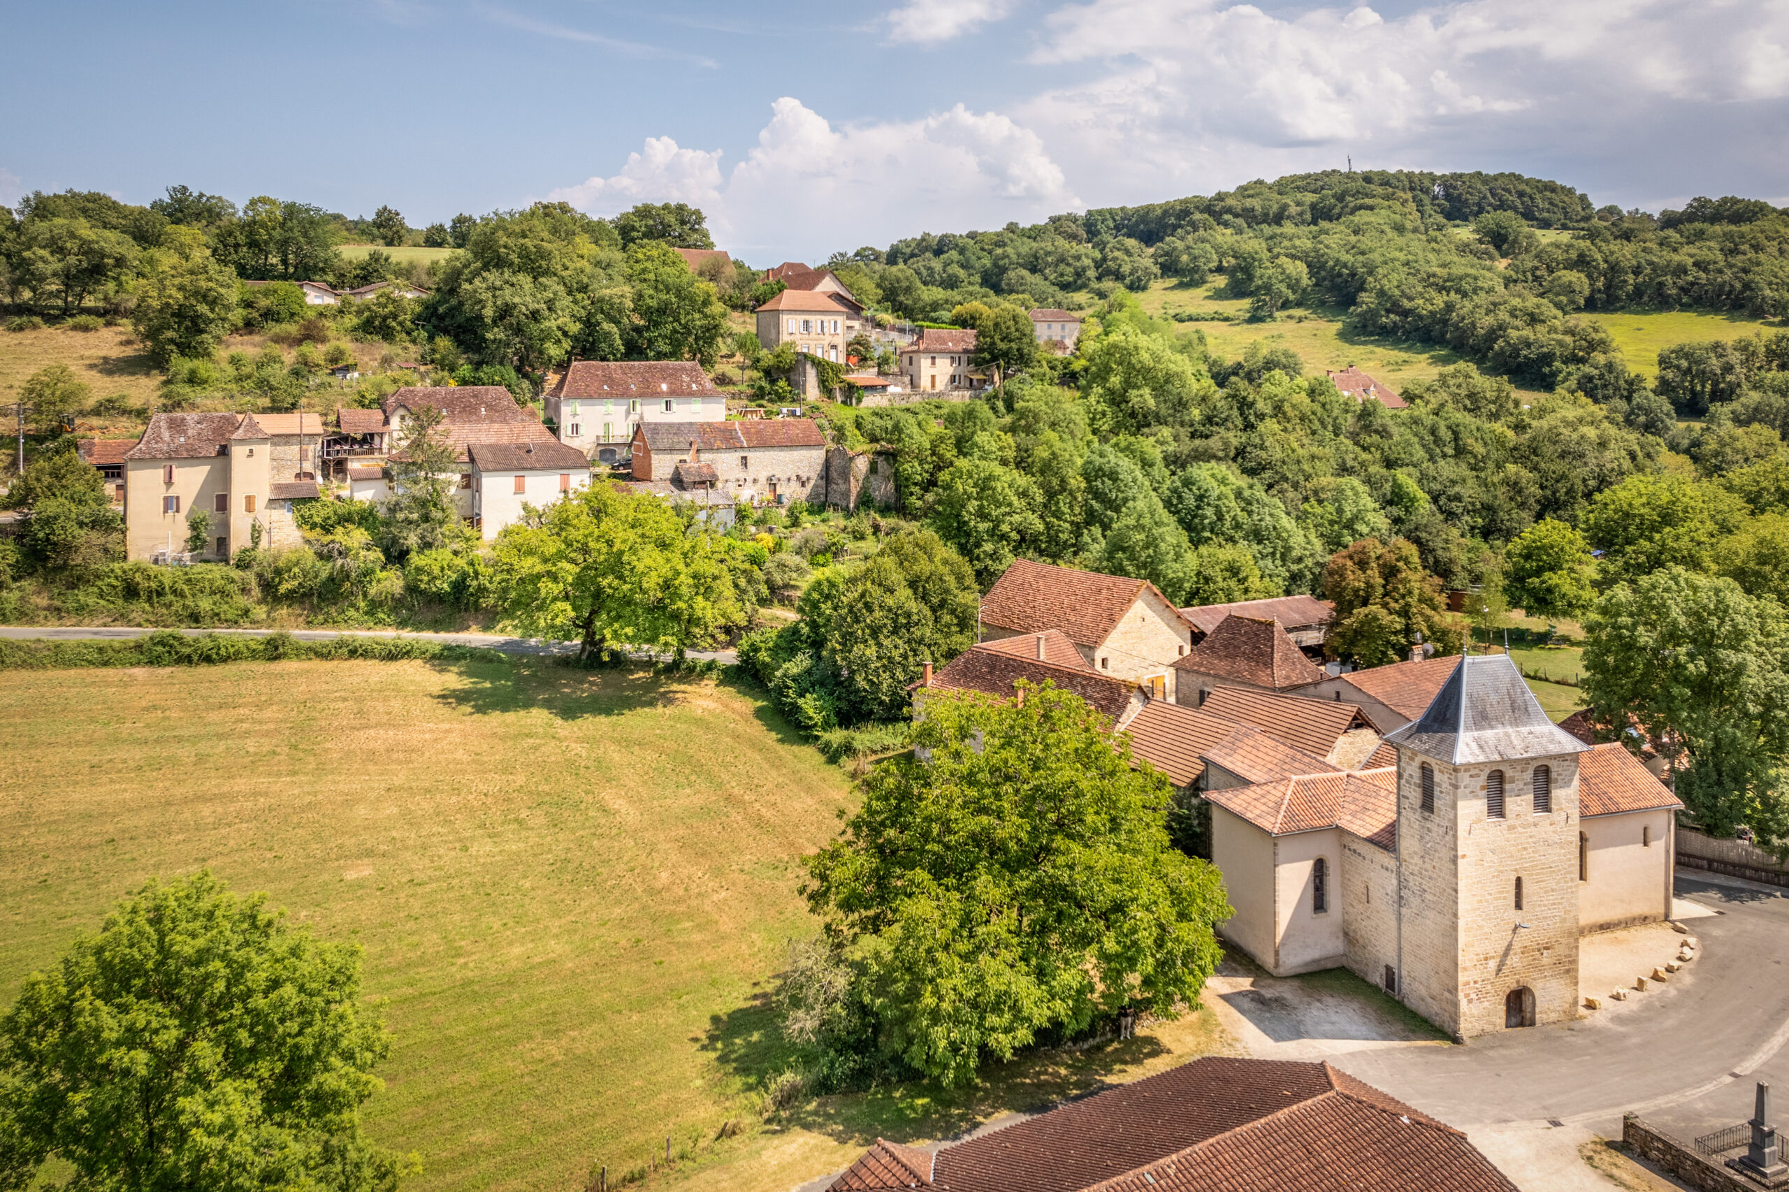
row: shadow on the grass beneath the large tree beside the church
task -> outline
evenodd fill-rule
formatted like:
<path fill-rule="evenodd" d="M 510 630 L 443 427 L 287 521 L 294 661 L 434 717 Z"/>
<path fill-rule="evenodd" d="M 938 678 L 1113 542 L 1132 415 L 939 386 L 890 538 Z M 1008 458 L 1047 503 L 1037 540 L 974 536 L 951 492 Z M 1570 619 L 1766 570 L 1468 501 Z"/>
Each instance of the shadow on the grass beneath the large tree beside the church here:
<path fill-rule="evenodd" d="M 708 1020 L 701 1049 L 712 1052 L 728 1076 L 764 1092 L 798 1063 L 800 1052 L 782 1038 L 769 993 Z M 1115 1076 L 1166 1054 L 1150 1036 L 1104 1040 L 1070 1047 L 1039 1047 L 1009 1063 L 982 1067 L 980 1083 L 943 1088 L 930 1081 L 887 1083 L 864 1092 L 809 1097 L 769 1119 L 773 1128 L 807 1129 L 843 1145 L 868 1147 L 877 1138 L 928 1142 L 962 1137 L 1007 1113 L 1039 1113 L 1109 1086 Z"/>

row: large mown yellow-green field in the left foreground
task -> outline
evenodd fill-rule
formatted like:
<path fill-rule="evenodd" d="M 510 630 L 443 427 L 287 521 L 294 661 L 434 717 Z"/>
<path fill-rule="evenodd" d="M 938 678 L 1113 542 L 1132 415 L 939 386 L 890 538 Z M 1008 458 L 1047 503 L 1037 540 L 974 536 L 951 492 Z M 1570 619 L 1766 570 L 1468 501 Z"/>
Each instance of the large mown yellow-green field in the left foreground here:
<path fill-rule="evenodd" d="M 784 1192 L 878 1135 L 925 1140 L 1225 1047 L 1209 1011 L 1041 1052 L 957 1094 L 764 1119 L 766 1004 L 814 931 L 798 859 L 843 773 L 750 691 L 546 664 L 277 662 L 0 675 L 0 1004 L 152 875 L 211 866 L 365 949 L 394 1031 L 383 1144 L 417 1192 L 653 1183 Z M 723 1122 L 742 1133 L 719 1138 Z"/>

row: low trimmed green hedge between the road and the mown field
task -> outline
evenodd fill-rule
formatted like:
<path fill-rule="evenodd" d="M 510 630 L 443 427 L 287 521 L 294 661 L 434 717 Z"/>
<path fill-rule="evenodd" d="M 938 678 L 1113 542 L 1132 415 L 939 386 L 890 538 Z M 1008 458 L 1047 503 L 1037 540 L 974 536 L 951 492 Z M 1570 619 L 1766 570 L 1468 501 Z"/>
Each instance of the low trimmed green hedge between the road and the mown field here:
<path fill-rule="evenodd" d="M 218 662 L 277 662 L 283 659 L 504 662 L 508 655 L 481 646 L 447 646 L 406 637 L 299 641 L 292 634 L 268 637 L 202 634 L 188 637 L 174 630 L 159 630 L 132 641 L 0 639 L 0 669 L 5 671 L 66 671 L 84 666 L 215 666 Z"/>

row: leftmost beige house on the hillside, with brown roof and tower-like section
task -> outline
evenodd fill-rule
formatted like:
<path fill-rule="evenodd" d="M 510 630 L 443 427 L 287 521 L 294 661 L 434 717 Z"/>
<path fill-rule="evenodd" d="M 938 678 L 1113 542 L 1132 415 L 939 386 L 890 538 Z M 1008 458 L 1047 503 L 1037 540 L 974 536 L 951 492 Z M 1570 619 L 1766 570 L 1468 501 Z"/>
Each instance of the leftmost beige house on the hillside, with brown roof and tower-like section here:
<path fill-rule="evenodd" d="M 197 553 L 202 560 L 227 562 L 254 541 L 256 524 L 263 546 L 297 541 L 292 501 L 315 498 L 317 480 L 295 474 L 299 435 L 276 437 L 263 417 L 279 415 L 157 413 L 148 421 L 123 453 L 125 558 L 184 557 L 195 510 L 211 523 L 206 549 Z"/>

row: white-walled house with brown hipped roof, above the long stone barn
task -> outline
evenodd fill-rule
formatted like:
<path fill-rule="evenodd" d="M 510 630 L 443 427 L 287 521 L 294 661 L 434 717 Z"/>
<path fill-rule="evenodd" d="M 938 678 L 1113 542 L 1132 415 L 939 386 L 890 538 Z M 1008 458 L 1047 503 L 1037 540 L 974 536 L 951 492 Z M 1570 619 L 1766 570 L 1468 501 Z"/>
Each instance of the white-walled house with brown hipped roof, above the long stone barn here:
<path fill-rule="evenodd" d="M 546 419 L 562 444 L 621 464 L 640 424 L 721 422 L 726 394 L 687 360 L 576 360 L 547 387 Z"/>

